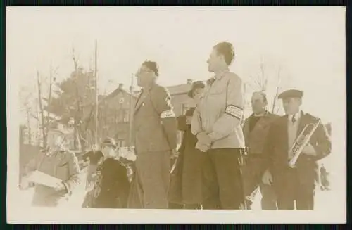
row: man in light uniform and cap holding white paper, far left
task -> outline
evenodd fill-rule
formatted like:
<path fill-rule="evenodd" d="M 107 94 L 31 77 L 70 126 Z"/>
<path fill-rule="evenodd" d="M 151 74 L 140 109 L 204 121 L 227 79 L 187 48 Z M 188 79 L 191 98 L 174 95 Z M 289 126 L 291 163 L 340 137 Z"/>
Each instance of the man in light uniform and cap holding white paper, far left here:
<path fill-rule="evenodd" d="M 67 134 L 60 124 L 51 124 L 46 139 L 46 150 L 36 155 L 25 168 L 26 175 L 21 181 L 23 188 L 28 186 L 28 177 L 36 170 L 61 180 L 55 187 L 36 184 L 32 200 L 34 206 L 56 207 L 65 203 L 73 189 L 81 182 L 77 157 L 75 153 L 68 151 Z"/>

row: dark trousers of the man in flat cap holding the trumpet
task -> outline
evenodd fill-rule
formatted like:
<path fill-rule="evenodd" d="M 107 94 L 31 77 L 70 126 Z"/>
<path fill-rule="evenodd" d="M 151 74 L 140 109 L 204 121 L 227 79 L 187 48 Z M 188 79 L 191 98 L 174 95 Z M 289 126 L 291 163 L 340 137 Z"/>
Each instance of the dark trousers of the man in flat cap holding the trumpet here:
<path fill-rule="evenodd" d="M 274 181 L 275 183 L 275 181 Z M 301 184 L 296 169 L 284 172 L 284 178 L 276 183 L 277 207 L 279 210 L 313 210 L 315 184 Z"/>

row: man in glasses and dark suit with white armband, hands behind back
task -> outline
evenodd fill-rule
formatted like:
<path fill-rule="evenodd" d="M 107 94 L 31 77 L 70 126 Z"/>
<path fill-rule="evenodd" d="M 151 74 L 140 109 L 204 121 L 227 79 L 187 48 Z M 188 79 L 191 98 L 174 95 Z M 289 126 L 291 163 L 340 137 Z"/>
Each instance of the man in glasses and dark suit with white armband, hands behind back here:
<path fill-rule="evenodd" d="M 156 84 L 158 65 L 145 61 L 137 72 L 142 93 L 134 108 L 136 174 L 143 208 L 168 208 L 170 158 L 176 155 L 177 121 L 165 87 Z"/>

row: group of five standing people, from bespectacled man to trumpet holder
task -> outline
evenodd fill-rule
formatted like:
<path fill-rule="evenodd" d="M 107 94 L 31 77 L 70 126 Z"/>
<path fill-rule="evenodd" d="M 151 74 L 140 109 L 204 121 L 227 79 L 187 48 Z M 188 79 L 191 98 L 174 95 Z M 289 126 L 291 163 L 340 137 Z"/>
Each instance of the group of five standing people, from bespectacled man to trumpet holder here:
<path fill-rule="evenodd" d="M 262 209 L 294 209 L 296 202 L 296 209 L 313 210 L 317 160 L 331 151 L 325 127 L 318 125 L 296 167 L 289 167 L 291 145 L 303 128 L 318 118 L 301 111 L 302 91 L 291 89 L 279 95 L 286 113 L 281 117 L 265 110 L 265 94 L 255 92 L 251 98 L 253 114 L 242 127 L 244 83 L 229 70 L 233 60 L 232 44 L 221 42 L 213 47 L 208 70 L 215 76 L 206 85 L 193 84 L 189 96 L 195 99 L 196 107 L 187 111 L 183 120 L 175 117 L 167 89 L 156 84 L 157 63 L 142 63 L 136 75 L 142 93 L 134 108 L 137 160 L 129 207 L 191 205 L 189 208 L 239 210 L 250 208 L 251 199 L 246 198 L 260 190 Z M 201 89 L 201 96 L 197 89 Z M 185 135 L 180 151 L 176 149 L 177 127 Z M 194 203 L 185 201 L 185 183 L 175 183 L 170 158 L 177 158 L 177 180 L 188 180 L 187 193 L 198 196 Z M 189 165 L 194 170 L 189 170 Z M 189 178 L 196 187 L 190 189 Z M 174 191 L 181 196 L 172 194 Z M 175 197 L 178 206 L 170 199 Z"/>

